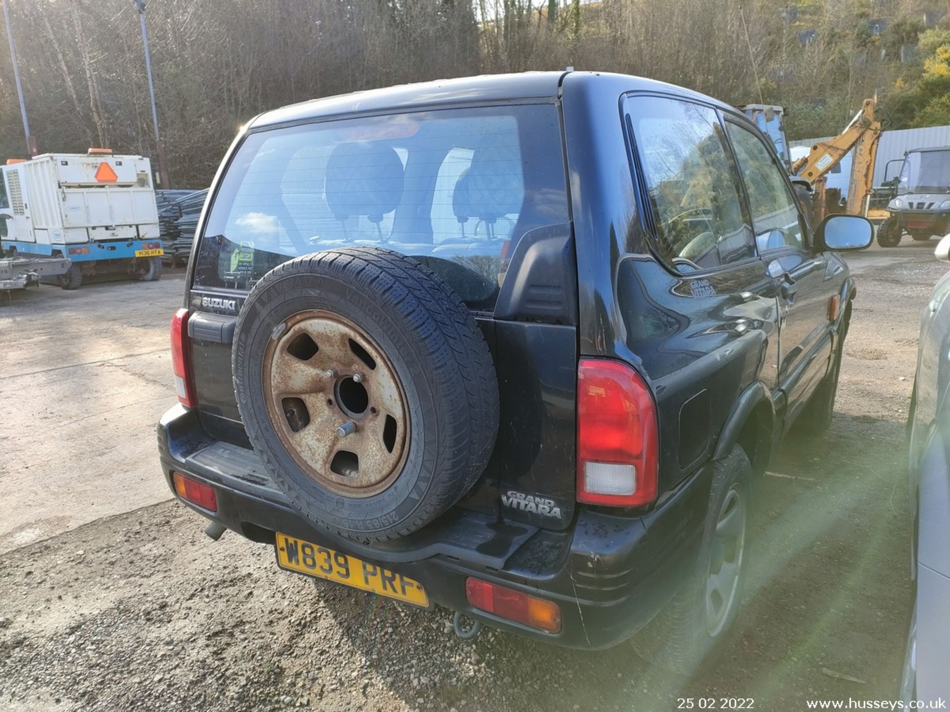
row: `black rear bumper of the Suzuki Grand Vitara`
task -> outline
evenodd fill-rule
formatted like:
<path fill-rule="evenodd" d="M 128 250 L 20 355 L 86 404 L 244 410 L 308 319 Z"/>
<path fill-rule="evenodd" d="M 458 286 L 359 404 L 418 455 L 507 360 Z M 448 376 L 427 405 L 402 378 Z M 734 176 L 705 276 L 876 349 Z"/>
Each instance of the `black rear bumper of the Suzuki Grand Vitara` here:
<path fill-rule="evenodd" d="M 370 546 L 314 528 L 254 452 L 208 438 L 196 411 L 177 405 L 165 413 L 158 440 L 172 492 L 172 470 L 212 485 L 216 513 L 185 504 L 237 534 L 271 546 L 276 532 L 312 541 L 403 573 L 434 603 L 486 625 L 582 648 L 617 645 L 670 600 L 693 570 L 710 489 L 704 469 L 648 515 L 580 509 L 563 532 L 454 508 L 420 532 Z M 545 633 L 472 609 L 468 576 L 556 601 L 561 631 Z"/>

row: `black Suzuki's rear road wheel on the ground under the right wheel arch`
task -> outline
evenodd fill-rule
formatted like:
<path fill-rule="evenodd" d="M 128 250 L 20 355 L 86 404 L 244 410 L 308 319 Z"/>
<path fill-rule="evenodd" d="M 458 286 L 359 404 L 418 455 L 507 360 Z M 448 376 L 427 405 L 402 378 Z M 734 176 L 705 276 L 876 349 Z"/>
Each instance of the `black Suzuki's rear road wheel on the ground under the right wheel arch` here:
<path fill-rule="evenodd" d="M 656 665 L 690 674 L 726 646 L 745 589 L 751 508 L 752 466 L 742 447 L 733 445 L 729 456 L 713 465 L 706 524 L 690 580 L 634 641 Z"/>

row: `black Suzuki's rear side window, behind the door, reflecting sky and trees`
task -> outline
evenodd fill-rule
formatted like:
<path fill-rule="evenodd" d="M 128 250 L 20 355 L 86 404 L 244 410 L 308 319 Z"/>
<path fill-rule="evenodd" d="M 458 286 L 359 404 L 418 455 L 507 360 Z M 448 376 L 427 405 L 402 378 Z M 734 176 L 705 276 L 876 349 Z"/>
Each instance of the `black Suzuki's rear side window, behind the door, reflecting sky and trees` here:
<path fill-rule="evenodd" d="M 679 272 L 755 256 L 742 188 L 715 111 L 661 97 L 627 100 L 657 251 Z"/>

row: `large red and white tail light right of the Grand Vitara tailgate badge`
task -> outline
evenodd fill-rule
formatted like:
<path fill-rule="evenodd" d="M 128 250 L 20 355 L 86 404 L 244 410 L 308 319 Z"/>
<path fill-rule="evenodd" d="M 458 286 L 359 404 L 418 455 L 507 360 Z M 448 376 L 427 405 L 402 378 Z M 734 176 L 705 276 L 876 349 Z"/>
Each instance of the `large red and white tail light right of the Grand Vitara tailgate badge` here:
<path fill-rule="evenodd" d="M 656 499 L 659 439 L 650 388 L 629 365 L 578 366 L 578 501 L 637 507 Z"/>

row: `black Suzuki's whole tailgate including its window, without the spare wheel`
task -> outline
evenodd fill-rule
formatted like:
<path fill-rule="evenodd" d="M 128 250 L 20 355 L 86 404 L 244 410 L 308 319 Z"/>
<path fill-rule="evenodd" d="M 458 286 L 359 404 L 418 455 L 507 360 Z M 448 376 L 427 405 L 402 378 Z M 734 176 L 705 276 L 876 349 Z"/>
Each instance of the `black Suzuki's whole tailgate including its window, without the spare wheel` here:
<path fill-rule="evenodd" d="M 354 182 L 344 161 L 357 144 L 373 150 Z M 277 125 L 251 130 L 232 151 L 209 194 L 190 272 L 191 358 L 209 435 L 249 446 L 230 349 L 258 279 L 299 254 L 396 250 L 462 297 L 496 366 L 497 444 L 459 506 L 566 528 L 575 499 L 578 278 L 555 98 L 421 109 L 397 122 Z"/>

